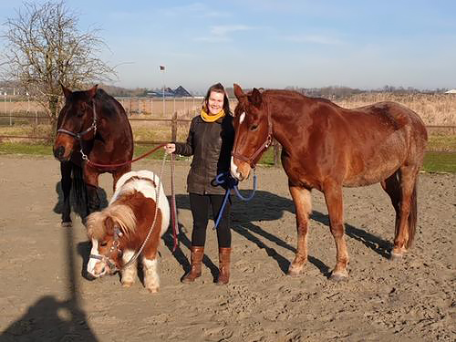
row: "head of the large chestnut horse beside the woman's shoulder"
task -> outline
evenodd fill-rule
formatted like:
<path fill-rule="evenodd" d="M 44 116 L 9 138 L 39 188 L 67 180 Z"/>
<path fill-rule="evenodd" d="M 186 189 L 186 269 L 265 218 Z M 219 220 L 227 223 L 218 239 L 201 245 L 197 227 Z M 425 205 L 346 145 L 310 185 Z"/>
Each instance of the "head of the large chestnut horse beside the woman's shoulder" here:
<path fill-rule="evenodd" d="M 235 136 L 231 174 L 243 181 L 260 160 L 264 150 L 271 145 L 272 123 L 260 90 L 254 88 L 245 94 L 241 87 L 234 84 L 234 95 L 238 104 L 234 109 Z"/>

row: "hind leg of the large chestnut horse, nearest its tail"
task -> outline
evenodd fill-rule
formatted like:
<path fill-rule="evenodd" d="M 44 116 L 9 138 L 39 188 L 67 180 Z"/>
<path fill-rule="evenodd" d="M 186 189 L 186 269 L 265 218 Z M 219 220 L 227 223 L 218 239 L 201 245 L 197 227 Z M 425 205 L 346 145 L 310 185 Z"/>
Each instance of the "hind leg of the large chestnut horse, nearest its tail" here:
<path fill-rule="evenodd" d="M 399 169 L 400 203 L 399 224 L 394 238 L 394 247 L 391 258 L 401 257 L 411 245 L 416 229 L 416 184 L 418 168 L 415 165 L 402 166 Z"/>

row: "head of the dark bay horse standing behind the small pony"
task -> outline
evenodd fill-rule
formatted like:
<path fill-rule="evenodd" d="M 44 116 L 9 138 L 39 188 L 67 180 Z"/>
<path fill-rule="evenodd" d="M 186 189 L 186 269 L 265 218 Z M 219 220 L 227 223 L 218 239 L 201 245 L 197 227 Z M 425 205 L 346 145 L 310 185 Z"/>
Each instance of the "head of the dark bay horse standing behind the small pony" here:
<path fill-rule="evenodd" d="M 67 161 L 73 150 L 78 148 L 79 140 L 94 137 L 96 117 L 93 98 L 97 94 L 97 86 L 75 92 L 63 85 L 62 89 L 65 106 L 58 114 L 57 136 L 53 150 L 58 161 Z"/>

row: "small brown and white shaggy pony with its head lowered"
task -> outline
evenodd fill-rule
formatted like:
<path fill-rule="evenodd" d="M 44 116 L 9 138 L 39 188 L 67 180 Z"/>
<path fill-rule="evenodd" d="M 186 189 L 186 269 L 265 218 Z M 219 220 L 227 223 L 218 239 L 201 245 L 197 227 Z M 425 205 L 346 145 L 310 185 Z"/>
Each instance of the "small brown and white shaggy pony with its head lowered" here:
<path fill-rule="evenodd" d="M 137 259 L 130 260 L 151 230 L 140 257 L 144 285 L 151 293 L 159 290 L 157 253 L 161 235 L 170 223 L 170 205 L 159 184 L 159 177 L 151 171 L 125 173 L 117 182 L 109 206 L 88 216 L 88 238 L 92 241 L 89 275 L 99 277 L 120 271 L 122 285 L 130 287 L 137 277 Z"/>

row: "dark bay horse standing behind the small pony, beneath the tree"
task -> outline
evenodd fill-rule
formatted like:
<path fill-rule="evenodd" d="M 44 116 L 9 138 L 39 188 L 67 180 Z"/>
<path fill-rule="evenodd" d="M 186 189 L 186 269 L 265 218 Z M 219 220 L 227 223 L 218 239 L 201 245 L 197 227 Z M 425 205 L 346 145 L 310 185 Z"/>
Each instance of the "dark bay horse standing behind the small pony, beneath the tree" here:
<path fill-rule="evenodd" d="M 70 226 L 69 193 L 72 177 L 76 182 L 81 178 L 85 196 L 86 216 L 98 211 L 98 176 L 109 172 L 113 178 L 113 188 L 120 176 L 131 170 L 127 164 L 117 168 L 99 168 L 88 163 L 119 164 L 130 161 L 133 156 L 133 134 L 125 110 L 120 103 L 97 86 L 86 91 L 74 91 L 62 86 L 65 106 L 57 120 L 57 137 L 54 142 L 54 156 L 60 161 L 61 185 L 64 193 L 62 225 Z M 85 185 L 84 185 L 85 184 Z M 78 185 L 78 183 L 75 183 Z M 78 190 L 78 189 L 75 189 Z"/>

